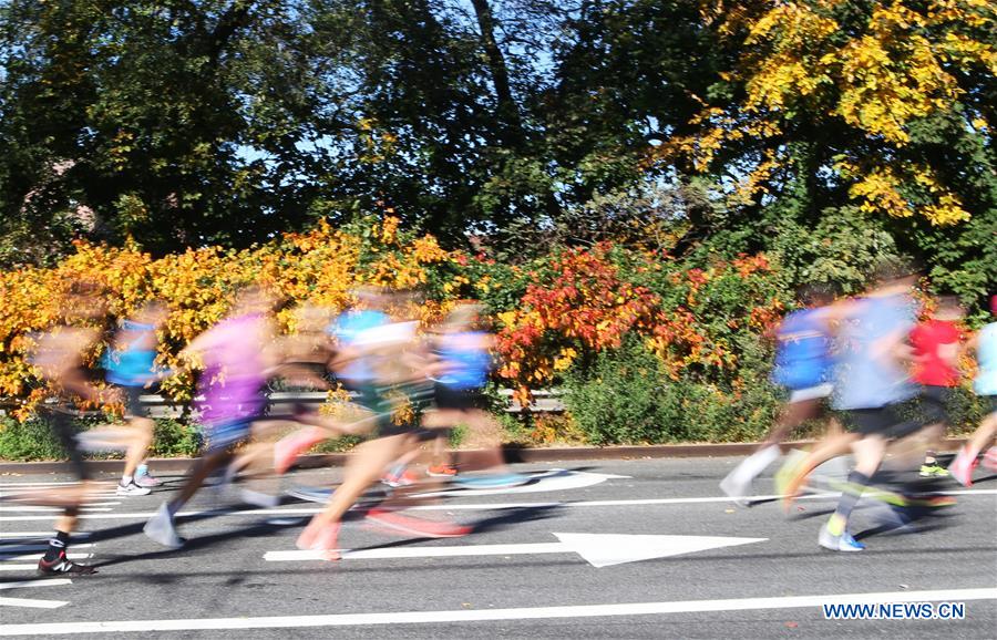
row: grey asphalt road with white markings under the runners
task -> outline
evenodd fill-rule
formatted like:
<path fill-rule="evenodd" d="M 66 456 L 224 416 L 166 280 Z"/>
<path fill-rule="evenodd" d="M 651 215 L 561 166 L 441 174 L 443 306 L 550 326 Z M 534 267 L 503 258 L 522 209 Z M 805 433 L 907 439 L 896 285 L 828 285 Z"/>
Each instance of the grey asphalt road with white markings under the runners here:
<path fill-rule="evenodd" d="M 833 495 L 809 496 L 789 516 L 775 500 L 736 506 L 717 483 L 738 460 L 518 465 L 538 478 L 496 495 L 452 491 L 409 512 L 473 524 L 473 535 L 412 539 L 354 515 L 339 543 L 362 553 L 339 562 L 274 559 L 295 550 L 304 518 L 319 507 L 289 497 L 275 509 L 246 510 L 230 495 L 205 491 L 181 520 L 188 546 L 158 547 L 141 528 L 182 482 L 166 476 L 150 496 L 95 497 L 81 527 L 90 535 L 70 553 L 92 556 L 81 561 L 100 574 L 40 586 L 31 582 L 35 560 L 21 556 L 40 553 L 23 547 L 42 544 L 52 514 L 4 502 L 0 634 L 997 637 L 997 476 L 978 473 L 968 492 L 942 483 L 958 504 L 903 530 L 887 530 L 892 512 L 865 499 L 853 529 L 868 548 L 834 554 L 816 544 Z M 566 471 L 552 471 L 558 467 Z M 772 492 L 773 471 L 757 483 L 760 494 Z M 299 472 L 257 486 L 328 486 L 339 473 Z M 62 479 L 3 475 L 0 492 Z M 608 537 L 585 536 L 593 534 Z M 594 566 L 607 562 L 620 564 Z M 964 602 L 965 619 L 828 620 L 821 607 L 895 601 Z"/>

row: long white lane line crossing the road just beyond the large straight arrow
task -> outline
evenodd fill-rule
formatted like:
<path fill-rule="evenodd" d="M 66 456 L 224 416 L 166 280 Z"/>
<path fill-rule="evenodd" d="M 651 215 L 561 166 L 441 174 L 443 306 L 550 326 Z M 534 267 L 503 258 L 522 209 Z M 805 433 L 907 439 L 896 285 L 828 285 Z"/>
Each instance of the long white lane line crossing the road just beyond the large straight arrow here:
<path fill-rule="evenodd" d="M 938 495 L 946 496 L 989 496 L 997 495 L 997 489 L 965 489 L 954 492 L 938 492 Z M 782 496 L 752 496 L 752 500 L 780 499 Z M 821 500 L 837 499 L 841 493 L 811 494 L 799 496 L 796 500 Z M 544 503 L 472 503 L 472 504 L 446 504 L 446 505 L 424 505 L 411 507 L 410 510 L 422 512 L 454 512 L 454 510 L 500 510 L 500 509 L 523 509 L 523 508 L 551 508 L 551 507 L 633 507 L 633 506 L 655 506 L 655 505 L 681 505 L 696 503 L 731 503 L 736 500 L 729 497 L 702 497 L 702 498 L 646 498 L 630 500 L 551 500 Z M 112 510 L 112 509 L 104 509 Z M 275 508 L 275 509 L 245 509 L 245 510 L 222 510 L 205 509 L 199 512 L 179 512 L 177 517 L 185 516 L 306 516 L 321 513 L 321 508 Z M 144 519 L 156 515 L 156 512 L 134 512 L 119 514 L 80 514 L 81 519 L 103 520 L 103 519 Z M 29 522 L 29 520 L 48 520 L 47 516 L 4 516 L 0 517 L 0 523 Z"/>

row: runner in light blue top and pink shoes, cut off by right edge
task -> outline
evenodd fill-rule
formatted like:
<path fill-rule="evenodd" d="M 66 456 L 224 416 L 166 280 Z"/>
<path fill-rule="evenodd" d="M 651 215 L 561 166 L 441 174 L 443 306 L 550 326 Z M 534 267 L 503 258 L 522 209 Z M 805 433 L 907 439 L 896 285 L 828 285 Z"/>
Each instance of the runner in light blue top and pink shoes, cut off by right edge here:
<path fill-rule="evenodd" d="M 997 296 L 990 297 L 990 313 L 997 317 Z M 948 467 L 952 476 L 964 486 L 973 485 L 973 469 L 977 456 L 997 435 L 997 322 L 986 324 L 970 339 L 968 349 L 976 351 L 979 371 L 974 381 L 974 390 L 986 403 L 987 414 Z M 997 451 L 991 448 L 984 457 L 984 464 L 997 471 Z"/>

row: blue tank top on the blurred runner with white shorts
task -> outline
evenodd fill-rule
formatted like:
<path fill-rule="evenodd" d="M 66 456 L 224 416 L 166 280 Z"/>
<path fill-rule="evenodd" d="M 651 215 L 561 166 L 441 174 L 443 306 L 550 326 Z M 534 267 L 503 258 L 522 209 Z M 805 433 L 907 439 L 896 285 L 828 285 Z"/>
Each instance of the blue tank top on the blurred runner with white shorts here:
<path fill-rule="evenodd" d="M 778 339 L 772 382 L 796 390 L 830 381 L 831 338 L 819 309 L 801 309 L 787 316 Z"/>

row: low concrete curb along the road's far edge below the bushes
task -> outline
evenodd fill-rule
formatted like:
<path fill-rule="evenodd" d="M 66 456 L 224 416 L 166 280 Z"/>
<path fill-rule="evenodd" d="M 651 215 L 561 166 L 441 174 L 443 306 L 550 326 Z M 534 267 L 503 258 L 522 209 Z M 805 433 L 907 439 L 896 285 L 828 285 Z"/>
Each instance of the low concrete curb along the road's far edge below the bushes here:
<path fill-rule="evenodd" d="M 788 443 L 783 446 L 809 446 L 815 441 L 806 440 Z M 956 451 L 966 438 L 947 438 L 944 451 Z M 758 443 L 724 444 L 657 444 L 644 446 L 569 446 L 548 448 L 527 448 L 506 445 L 505 458 L 508 462 L 555 462 L 555 461 L 592 461 L 592 460 L 636 460 L 658 457 L 723 457 L 748 455 Z M 326 453 L 305 455 L 298 460 L 298 468 L 319 468 L 342 466 L 349 453 Z M 194 463 L 189 457 L 152 458 L 150 467 L 160 473 L 185 473 Z M 86 463 L 97 473 L 121 473 L 122 461 L 95 460 Z M 69 463 L 51 462 L 6 462 L 0 461 L 0 474 L 62 474 L 70 473 Z"/>

